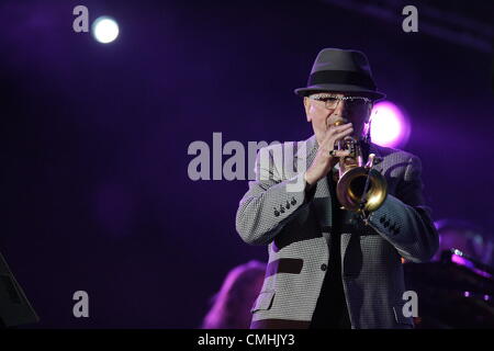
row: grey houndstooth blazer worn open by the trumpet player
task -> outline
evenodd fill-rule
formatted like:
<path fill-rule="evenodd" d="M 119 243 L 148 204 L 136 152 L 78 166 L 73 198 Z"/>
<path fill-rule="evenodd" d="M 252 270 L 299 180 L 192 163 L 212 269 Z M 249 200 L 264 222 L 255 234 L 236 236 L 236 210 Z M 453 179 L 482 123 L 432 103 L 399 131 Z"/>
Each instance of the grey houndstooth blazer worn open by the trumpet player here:
<path fill-rule="evenodd" d="M 260 149 L 256 180 L 240 200 L 238 234 L 247 244 L 268 245 L 269 252 L 265 282 L 251 308 L 251 328 L 310 326 L 328 265 L 336 201 L 326 178 L 305 189 L 304 173 L 317 147 L 313 135 Z M 353 329 L 412 328 L 412 318 L 403 313 L 401 258 L 428 261 L 438 248 L 430 210 L 424 205 L 420 160 L 373 144 L 370 152 L 382 159 L 374 169 L 385 177 L 389 195 L 370 215 L 369 225 L 344 212 L 341 272 L 327 273 L 341 275 Z"/>

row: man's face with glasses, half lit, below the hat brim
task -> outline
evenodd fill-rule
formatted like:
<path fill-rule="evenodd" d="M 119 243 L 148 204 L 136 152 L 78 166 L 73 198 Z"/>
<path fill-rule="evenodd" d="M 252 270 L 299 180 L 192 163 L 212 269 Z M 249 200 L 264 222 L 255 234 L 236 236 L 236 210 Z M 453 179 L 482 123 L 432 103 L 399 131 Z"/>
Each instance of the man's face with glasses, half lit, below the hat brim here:
<path fill-rule="evenodd" d="M 372 103 L 364 103 L 363 100 L 356 100 L 357 103 L 348 100 L 338 101 L 334 109 L 328 109 L 326 101 L 334 98 L 358 97 L 357 94 L 343 94 L 337 92 L 314 93 L 308 98 L 304 98 L 305 114 L 307 122 L 312 123 L 317 143 L 324 139 L 326 132 L 334 127 L 338 121 L 353 124 L 353 136 L 360 137 L 367 123 Z M 317 99 L 317 100 L 314 100 Z M 330 103 L 329 103 L 330 104 Z"/>

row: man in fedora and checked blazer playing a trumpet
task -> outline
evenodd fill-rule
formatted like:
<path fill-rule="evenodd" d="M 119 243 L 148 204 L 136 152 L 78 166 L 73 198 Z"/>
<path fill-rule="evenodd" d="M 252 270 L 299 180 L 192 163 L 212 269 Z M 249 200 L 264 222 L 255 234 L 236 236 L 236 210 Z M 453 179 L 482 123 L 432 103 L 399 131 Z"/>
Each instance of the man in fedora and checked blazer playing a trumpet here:
<path fill-rule="evenodd" d="M 420 161 L 370 141 L 384 94 L 362 53 L 323 49 L 295 93 L 314 135 L 292 152 L 259 151 L 236 215 L 243 240 L 269 252 L 250 327 L 412 328 L 401 260 L 428 261 L 438 247 Z"/>

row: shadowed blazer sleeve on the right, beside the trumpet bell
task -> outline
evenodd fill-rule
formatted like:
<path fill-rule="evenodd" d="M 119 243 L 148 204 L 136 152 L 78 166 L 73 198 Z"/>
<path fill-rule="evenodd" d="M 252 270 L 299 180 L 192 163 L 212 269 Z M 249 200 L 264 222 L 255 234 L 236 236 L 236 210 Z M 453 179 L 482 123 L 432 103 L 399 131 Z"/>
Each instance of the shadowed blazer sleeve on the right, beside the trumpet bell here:
<path fill-rule="evenodd" d="M 424 204 L 422 163 L 408 160 L 395 196 L 388 195 L 380 208 L 369 216 L 369 225 L 412 262 L 425 262 L 436 253 L 439 237 Z"/>

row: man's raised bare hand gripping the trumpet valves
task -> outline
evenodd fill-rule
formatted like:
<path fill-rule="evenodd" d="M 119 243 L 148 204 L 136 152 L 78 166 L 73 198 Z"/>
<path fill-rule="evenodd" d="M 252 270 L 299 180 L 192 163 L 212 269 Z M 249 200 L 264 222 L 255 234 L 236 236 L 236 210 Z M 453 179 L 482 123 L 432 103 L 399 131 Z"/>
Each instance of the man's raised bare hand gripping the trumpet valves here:
<path fill-rule="evenodd" d="M 305 172 L 305 181 L 313 185 L 317 183 L 319 179 L 326 177 L 329 170 L 335 167 L 338 162 L 339 157 L 345 157 L 350 155 L 348 150 L 335 150 L 335 155 L 332 156 L 329 152 L 335 149 L 335 144 L 345 137 L 351 135 L 353 133 L 353 127 L 351 123 L 330 126 L 326 131 L 326 135 L 321 143 L 314 162 L 312 162 L 311 167 Z"/>

